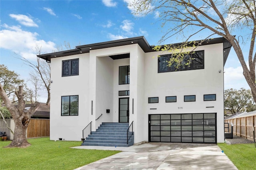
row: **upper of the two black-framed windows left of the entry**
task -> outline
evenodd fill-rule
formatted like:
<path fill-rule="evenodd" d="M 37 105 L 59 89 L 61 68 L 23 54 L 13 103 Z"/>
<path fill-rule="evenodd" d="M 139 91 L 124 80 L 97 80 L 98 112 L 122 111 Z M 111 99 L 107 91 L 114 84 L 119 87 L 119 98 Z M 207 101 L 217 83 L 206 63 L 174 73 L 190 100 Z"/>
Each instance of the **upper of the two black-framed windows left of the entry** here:
<path fill-rule="evenodd" d="M 62 77 L 79 75 L 79 59 L 62 61 Z"/>

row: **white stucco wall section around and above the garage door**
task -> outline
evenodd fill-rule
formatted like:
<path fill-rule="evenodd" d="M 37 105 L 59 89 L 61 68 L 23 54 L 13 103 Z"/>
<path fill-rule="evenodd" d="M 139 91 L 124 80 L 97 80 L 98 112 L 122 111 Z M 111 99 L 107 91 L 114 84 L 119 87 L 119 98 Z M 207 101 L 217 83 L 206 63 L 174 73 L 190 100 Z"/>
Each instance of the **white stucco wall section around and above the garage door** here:
<path fill-rule="evenodd" d="M 146 53 L 144 98 L 146 113 L 217 113 L 217 142 L 223 143 L 224 86 L 222 49 L 222 44 L 204 45 L 196 49 L 196 51 L 204 50 L 204 69 L 164 73 L 158 73 L 157 55 L 166 53 Z M 216 94 L 216 101 L 204 101 L 204 94 Z M 196 95 L 196 102 L 184 102 L 184 95 Z M 177 96 L 177 102 L 166 103 L 166 96 Z M 159 103 L 148 104 L 149 97 L 158 97 Z M 206 108 L 207 106 L 214 107 Z M 179 107 L 182 107 L 182 109 L 179 109 Z"/>

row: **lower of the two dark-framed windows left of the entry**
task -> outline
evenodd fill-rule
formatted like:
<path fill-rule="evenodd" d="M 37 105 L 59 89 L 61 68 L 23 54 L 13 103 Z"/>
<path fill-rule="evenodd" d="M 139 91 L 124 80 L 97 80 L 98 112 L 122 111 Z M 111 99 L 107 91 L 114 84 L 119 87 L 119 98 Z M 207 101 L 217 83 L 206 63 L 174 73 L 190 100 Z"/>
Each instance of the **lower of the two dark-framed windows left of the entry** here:
<path fill-rule="evenodd" d="M 78 115 L 78 95 L 61 96 L 61 115 L 62 116 Z"/>

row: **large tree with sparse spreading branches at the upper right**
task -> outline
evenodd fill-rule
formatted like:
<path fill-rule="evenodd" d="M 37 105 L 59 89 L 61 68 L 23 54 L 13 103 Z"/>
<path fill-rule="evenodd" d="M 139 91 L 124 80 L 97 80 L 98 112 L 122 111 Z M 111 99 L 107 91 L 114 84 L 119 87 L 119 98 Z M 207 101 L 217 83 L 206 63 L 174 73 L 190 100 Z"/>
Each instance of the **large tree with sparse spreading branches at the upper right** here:
<path fill-rule="evenodd" d="M 210 34 L 220 35 L 227 39 L 236 52 L 244 77 L 256 101 L 255 0 L 136 0 L 129 6 L 134 9 L 133 14 L 136 16 L 148 15 L 152 12 L 159 14 L 162 27 L 165 25 L 169 27 L 167 33 L 162 36 L 161 42 L 178 34 L 185 37 L 185 42 L 188 42 L 190 37 L 200 35 L 206 30 L 210 31 Z M 249 67 L 246 65 L 245 53 L 242 52 L 240 46 L 246 37 L 240 35 L 234 37 L 232 31 L 235 29 L 250 30 L 246 35 L 250 41 Z"/>

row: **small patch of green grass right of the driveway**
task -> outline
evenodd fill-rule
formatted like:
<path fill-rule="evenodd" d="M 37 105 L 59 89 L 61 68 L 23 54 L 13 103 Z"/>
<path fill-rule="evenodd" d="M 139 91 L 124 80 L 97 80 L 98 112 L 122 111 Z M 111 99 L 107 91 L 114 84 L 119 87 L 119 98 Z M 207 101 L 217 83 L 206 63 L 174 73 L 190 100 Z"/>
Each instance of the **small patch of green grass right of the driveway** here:
<path fill-rule="evenodd" d="M 218 146 L 239 170 L 256 169 L 256 148 L 254 147 L 254 143 L 232 145 L 218 143 Z"/>

